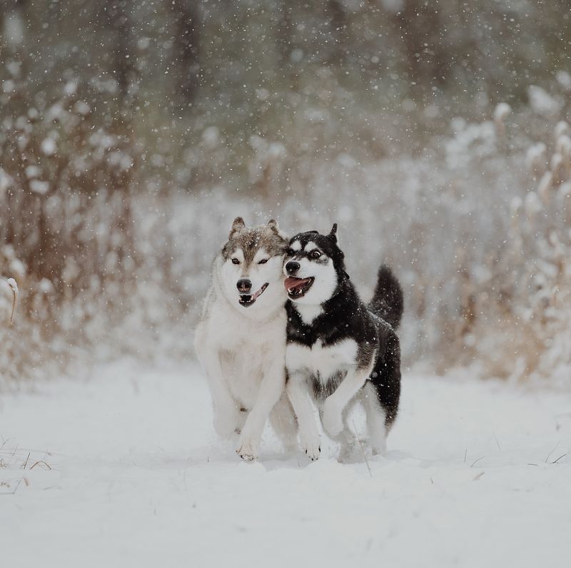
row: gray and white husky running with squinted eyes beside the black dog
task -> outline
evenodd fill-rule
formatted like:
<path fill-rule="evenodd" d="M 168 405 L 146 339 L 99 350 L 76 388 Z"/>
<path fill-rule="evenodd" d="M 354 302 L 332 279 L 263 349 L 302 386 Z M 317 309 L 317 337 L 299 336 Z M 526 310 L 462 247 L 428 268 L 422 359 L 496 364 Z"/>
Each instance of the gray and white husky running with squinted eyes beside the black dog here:
<path fill-rule="evenodd" d="M 287 244 L 275 220 L 248 228 L 237 217 L 214 259 L 196 329 L 214 428 L 223 438 L 238 434 L 236 452 L 244 460 L 257 457 L 268 416 L 288 449 L 297 435 L 284 393 L 287 295 L 282 265 Z"/>

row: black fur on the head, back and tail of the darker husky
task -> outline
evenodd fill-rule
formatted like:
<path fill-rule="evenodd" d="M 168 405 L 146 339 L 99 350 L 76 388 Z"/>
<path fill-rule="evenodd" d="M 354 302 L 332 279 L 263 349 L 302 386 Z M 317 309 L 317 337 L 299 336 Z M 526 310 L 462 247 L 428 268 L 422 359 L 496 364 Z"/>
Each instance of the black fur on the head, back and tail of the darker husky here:
<path fill-rule="evenodd" d="M 333 259 L 338 286 L 333 297 L 321 305 L 322 313 L 310 325 L 303 322 L 295 302 L 288 300 L 285 305 L 288 343 L 300 343 L 310 348 L 318 341 L 326 347 L 353 339 L 358 344 L 357 365 L 360 368 L 368 367 L 376 353 L 368 380 L 375 387 L 378 402 L 386 412 L 387 425 L 391 425 L 400 398 L 400 343 L 396 328 L 403 315 L 403 292 L 398 280 L 388 267 L 382 266 L 373 300 L 365 305 L 345 272 L 344 255 L 336 239 L 311 231 L 295 235 L 290 244 L 294 240 L 299 240 L 302 245 L 314 241 Z M 295 253 L 287 254 L 295 257 Z M 331 384 L 326 387 L 318 379 L 313 377 L 313 395 L 323 401 L 335 391 L 343 377 L 331 377 Z"/>

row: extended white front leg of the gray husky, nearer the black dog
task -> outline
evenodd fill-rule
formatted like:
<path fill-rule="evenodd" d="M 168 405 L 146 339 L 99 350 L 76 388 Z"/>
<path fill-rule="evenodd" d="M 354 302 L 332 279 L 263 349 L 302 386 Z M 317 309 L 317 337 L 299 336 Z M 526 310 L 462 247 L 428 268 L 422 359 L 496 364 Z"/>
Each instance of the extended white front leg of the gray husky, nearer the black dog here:
<path fill-rule="evenodd" d="M 258 449 L 262 438 L 263 427 L 276 402 L 280 399 L 285 387 L 285 357 L 275 354 L 264 375 L 256 397 L 256 403 L 246 418 L 236 453 L 246 461 L 258 457 Z"/>

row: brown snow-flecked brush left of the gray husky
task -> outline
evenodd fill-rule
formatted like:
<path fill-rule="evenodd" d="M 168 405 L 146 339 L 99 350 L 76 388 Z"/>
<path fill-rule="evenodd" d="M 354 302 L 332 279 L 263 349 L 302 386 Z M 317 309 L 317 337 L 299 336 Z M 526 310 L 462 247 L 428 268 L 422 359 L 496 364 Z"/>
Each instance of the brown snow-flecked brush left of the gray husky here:
<path fill-rule="evenodd" d="M 182 308 L 167 300 L 175 285 L 163 272 L 172 256 L 164 204 L 152 191 L 137 195 L 141 146 L 121 121 L 94 116 L 92 85 L 69 76 L 53 99 L 29 98 L 11 69 L 0 94 L 9 109 L 0 121 L 0 272 L 16 278 L 21 305 L 16 325 L 0 326 L 0 382 L 148 353 L 156 324 Z M 4 308 L 0 298 L 2 316 Z"/>

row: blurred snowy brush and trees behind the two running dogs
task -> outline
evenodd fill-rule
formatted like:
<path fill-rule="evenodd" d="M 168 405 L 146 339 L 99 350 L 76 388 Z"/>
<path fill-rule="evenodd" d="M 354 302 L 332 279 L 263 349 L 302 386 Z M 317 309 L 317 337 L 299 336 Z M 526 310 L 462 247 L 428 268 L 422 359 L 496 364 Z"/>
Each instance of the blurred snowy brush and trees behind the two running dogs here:
<path fill-rule="evenodd" d="M 0 383 L 193 357 L 231 220 L 340 224 L 407 365 L 569 387 L 568 0 L 0 2 Z"/>

